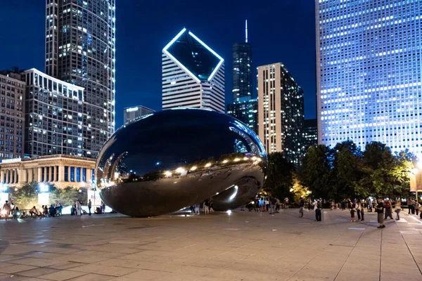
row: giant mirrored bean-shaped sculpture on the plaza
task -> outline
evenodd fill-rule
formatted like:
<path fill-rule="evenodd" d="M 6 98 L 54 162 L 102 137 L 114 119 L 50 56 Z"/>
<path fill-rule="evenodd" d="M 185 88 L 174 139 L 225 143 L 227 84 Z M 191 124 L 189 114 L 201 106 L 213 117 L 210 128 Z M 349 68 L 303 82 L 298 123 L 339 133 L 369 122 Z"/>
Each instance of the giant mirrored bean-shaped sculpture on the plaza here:
<path fill-rule="evenodd" d="M 264 184 L 267 154 L 245 124 L 218 112 L 164 110 L 120 127 L 103 146 L 103 202 L 129 216 L 159 216 L 212 198 L 240 207 Z"/>

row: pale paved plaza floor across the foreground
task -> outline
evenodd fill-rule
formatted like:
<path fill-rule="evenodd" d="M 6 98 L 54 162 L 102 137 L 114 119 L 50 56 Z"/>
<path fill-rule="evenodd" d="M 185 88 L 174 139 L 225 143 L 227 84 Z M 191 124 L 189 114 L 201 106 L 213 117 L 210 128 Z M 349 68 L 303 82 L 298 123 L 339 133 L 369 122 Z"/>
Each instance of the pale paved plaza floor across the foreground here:
<path fill-rule="evenodd" d="M 0 221 L 0 280 L 422 280 L 422 223 L 234 211 Z"/>

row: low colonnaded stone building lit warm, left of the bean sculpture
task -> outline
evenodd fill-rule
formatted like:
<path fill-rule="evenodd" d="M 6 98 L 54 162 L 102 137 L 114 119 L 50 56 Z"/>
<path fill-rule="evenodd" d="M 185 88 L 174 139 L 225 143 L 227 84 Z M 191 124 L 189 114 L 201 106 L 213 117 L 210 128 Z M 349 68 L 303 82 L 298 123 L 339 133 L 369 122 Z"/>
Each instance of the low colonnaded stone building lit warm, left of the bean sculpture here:
<path fill-rule="evenodd" d="M 95 159 L 72 155 L 47 155 L 6 159 L 0 164 L 0 183 L 19 188 L 36 181 L 57 188 L 87 187 L 94 179 Z"/>

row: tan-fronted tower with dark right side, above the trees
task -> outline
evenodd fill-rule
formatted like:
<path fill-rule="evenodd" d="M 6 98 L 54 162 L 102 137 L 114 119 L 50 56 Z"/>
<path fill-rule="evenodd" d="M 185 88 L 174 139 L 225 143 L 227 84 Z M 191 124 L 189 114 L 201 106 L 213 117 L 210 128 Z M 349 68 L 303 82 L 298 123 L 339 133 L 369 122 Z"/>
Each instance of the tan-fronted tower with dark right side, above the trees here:
<path fill-rule="evenodd" d="M 267 153 L 283 152 L 299 166 L 303 157 L 303 91 L 282 63 L 258 67 L 258 136 Z"/>

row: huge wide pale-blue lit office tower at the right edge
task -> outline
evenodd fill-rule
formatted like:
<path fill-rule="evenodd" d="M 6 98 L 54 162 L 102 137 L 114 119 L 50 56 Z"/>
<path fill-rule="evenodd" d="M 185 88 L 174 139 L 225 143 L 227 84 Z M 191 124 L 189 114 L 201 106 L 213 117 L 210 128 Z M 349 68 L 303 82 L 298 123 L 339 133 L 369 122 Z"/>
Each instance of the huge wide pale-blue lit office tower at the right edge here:
<path fill-rule="evenodd" d="M 422 153 L 422 1 L 316 1 L 319 143 Z"/>

